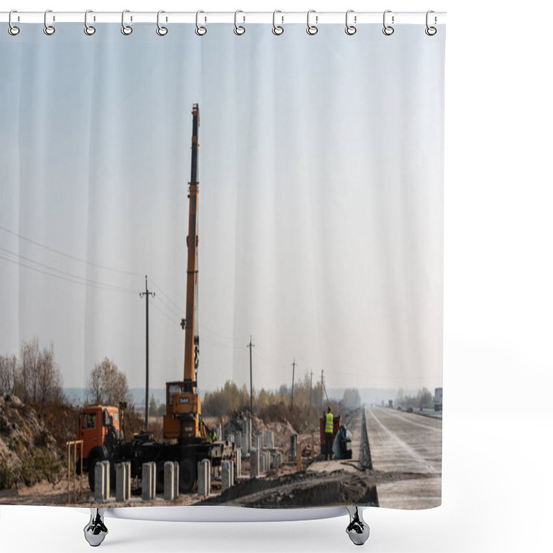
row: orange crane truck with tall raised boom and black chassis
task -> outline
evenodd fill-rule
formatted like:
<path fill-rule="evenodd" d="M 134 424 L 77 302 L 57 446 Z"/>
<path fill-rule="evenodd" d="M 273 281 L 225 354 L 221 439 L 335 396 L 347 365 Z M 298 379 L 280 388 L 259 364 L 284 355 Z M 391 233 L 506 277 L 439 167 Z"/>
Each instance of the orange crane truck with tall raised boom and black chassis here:
<path fill-rule="evenodd" d="M 149 432 L 124 436 L 124 405 L 119 407 L 91 405 L 79 416 L 77 440 L 83 440 L 81 451 L 83 471 L 94 489 L 95 464 L 110 461 L 111 482 L 115 482 L 115 465 L 131 462 L 131 477 L 142 479 L 142 463 L 156 462 L 156 487 L 162 491 L 165 461 L 179 464 L 179 490 L 187 493 L 194 488 L 197 464 L 209 459 L 213 467 L 223 460 L 234 461 L 234 443 L 215 441 L 212 430 L 203 422 L 198 394 L 200 339 L 196 334 L 196 279 L 198 278 L 198 127 L 200 109 L 192 106 L 191 178 L 188 188 L 187 289 L 186 315 L 181 326 L 185 330 L 184 379 L 166 384 L 166 412 L 163 416 L 163 438 L 158 442 Z M 80 469 L 80 457 L 77 471 Z"/>

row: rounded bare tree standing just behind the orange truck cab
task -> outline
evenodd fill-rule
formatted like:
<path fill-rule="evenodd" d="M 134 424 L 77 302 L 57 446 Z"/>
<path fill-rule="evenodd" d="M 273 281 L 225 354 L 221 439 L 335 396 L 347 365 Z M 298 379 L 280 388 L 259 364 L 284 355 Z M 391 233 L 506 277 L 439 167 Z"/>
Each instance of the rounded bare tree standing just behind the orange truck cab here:
<path fill-rule="evenodd" d="M 95 364 L 86 384 L 87 400 L 95 404 L 118 405 L 131 403 L 126 375 L 108 357 Z"/>

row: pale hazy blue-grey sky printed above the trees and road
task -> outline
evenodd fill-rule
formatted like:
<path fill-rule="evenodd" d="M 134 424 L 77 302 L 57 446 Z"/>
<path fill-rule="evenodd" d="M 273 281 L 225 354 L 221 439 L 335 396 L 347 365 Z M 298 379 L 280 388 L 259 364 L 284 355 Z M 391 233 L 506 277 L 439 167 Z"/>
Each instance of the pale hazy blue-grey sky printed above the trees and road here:
<path fill-rule="evenodd" d="M 333 388 L 442 385 L 444 32 L 21 27 L 0 43 L 0 353 L 36 336 L 65 386 L 104 356 L 143 386 L 148 274 L 150 385 L 182 378 L 197 102 L 199 386 L 249 385 L 250 333 L 258 389 L 294 357 Z"/>

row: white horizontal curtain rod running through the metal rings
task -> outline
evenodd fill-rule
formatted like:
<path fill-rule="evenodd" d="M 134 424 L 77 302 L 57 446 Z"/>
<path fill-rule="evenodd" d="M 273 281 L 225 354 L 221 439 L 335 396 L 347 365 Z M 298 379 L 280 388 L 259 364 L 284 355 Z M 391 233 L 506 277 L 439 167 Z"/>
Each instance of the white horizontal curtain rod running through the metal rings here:
<path fill-rule="evenodd" d="M 393 17 L 394 24 L 422 24 L 424 25 L 427 18 L 427 12 L 393 12 L 386 10 L 387 21 L 391 21 Z M 307 21 L 307 12 L 281 12 L 278 11 L 273 15 L 273 12 L 245 12 L 238 11 L 235 16 L 234 12 L 198 12 L 199 21 L 202 24 L 217 24 L 229 23 L 235 21 L 238 24 L 243 23 L 266 23 L 272 24 L 273 17 L 277 24 L 305 24 Z M 349 13 L 349 21 L 351 24 L 382 24 L 384 12 L 355 12 Z M 431 24 L 444 24 L 446 12 L 432 12 Z M 160 15 L 163 23 L 178 24 L 178 23 L 196 23 L 196 12 L 162 12 Z M 0 12 L 0 21 L 8 22 L 9 12 Z M 88 22 L 95 23 L 121 23 L 121 12 L 94 12 L 88 13 Z M 158 20 L 158 12 L 133 12 L 129 10 L 125 13 L 126 23 L 153 23 Z M 312 11 L 310 21 L 314 24 L 337 24 L 346 21 L 346 12 L 317 12 Z M 16 23 L 44 23 L 44 12 L 13 12 L 12 24 Z M 84 23 L 84 12 L 55 12 L 48 11 L 48 23 Z"/>

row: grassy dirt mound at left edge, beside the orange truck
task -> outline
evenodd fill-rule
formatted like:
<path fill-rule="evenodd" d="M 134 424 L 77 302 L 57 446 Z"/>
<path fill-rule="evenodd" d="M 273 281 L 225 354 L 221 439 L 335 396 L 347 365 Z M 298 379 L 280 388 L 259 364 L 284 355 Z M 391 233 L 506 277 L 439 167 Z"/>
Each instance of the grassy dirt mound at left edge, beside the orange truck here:
<path fill-rule="evenodd" d="M 52 481 L 62 463 L 55 439 L 15 395 L 0 396 L 0 490 Z"/>

